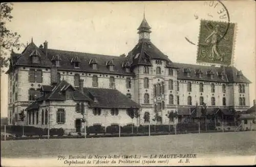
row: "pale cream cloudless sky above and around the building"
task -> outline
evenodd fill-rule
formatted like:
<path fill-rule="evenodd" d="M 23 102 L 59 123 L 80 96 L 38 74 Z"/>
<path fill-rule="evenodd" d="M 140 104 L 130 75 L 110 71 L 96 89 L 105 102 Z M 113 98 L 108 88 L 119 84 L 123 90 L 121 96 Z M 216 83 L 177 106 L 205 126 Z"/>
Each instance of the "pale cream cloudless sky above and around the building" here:
<path fill-rule="evenodd" d="M 252 106 L 256 95 L 255 3 L 222 3 L 227 10 L 218 1 L 13 3 L 13 19 L 7 26 L 25 44 L 33 37 L 37 46 L 48 41 L 48 48 L 119 56 L 137 44 L 137 28 L 145 11 L 152 27 L 151 41 L 173 62 L 197 64 L 197 45 L 185 37 L 197 44 L 200 20 L 228 22 L 220 19 L 228 11 L 229 21 L 237 27 L 232 65 L 252 82 Z M 7 117 L 7 79 L 6 74 L 1 76 L 1 117 Z"/>

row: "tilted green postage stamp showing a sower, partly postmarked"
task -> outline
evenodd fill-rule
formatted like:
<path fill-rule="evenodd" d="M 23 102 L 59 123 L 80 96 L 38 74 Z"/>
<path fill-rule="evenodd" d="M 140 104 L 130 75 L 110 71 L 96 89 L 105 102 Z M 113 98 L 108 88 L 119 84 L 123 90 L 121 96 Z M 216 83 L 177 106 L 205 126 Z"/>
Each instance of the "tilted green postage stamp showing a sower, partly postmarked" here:
<path fill-rule="evenodd" d="M 230 65 L 234 23 L 201 20 L 197 62 Z"/>

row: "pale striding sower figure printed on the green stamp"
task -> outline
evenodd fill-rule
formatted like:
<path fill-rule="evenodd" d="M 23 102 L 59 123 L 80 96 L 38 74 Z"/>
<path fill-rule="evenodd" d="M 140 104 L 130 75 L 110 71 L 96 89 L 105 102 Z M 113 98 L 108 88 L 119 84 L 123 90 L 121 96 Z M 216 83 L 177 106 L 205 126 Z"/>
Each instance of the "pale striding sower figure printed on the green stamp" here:
<path fill-rule="evenodd" d="M 223 61 L 223 56 L 224 56 L 224 53 L 223 55 L 221 56 L 220 53 L 218 52 L 218 49 L 217 49 L 217 45 L 218 45 L 218 40 L 217 40 L 217 37 L 218 35 L 220 37 L 223 37 L 222 35 L 219 34 L 219 24 L 216 25 L 215 27 L 215 30 L 214 28 L 212 27 L 212 25 L 208 25 L 209 29 L 212 30 L 211 34 L 205 39 L 205 42 L 210 42 L 210 45 L 211 45 L 211 51 L 210 51 L 210 59 L 211 60 L 215 60 L 215 55 L 216 55 L 216 59 L 217 60 L 221 60 Z"/>

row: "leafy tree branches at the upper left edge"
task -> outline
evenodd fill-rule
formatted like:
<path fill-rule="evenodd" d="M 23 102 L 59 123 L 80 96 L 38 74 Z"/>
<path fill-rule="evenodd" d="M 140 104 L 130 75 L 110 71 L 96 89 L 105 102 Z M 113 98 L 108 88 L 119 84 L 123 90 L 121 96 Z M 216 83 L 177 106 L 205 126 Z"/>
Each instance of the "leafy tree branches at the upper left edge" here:
<path fill-rule="evenodd" d="M 0 65 L 1 69 L 3 67 L 8 67 L 8 61 L 10 58 L 7 57 L 9 51 L 13 48 L 19 50 L 24 44 L 19 43 L 20 35 L 16 32 L 12 32 L 8 29 L 6 23 L 11 22 L 12 15 L 11 11 L 13 9 L 12 3 L 1 3 L 0 4 L 0 44 L 1 44 L 1 53 L 0 53 Z M 3 72 L 3 70 L 1 70 Z"/>

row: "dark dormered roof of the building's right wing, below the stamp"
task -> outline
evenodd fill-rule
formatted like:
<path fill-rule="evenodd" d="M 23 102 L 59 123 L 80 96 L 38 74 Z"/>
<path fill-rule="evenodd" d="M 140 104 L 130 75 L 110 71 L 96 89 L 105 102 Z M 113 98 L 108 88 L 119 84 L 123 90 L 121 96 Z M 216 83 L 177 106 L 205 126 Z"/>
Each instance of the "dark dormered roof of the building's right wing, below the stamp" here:
<path fill-rule="evenodd" d="M 239 77 L 237 75 L 236 67 L 214 67 L 214 66 L 203 66 L 203 65 L 193 65 L 193 64 L 182 64 L 182 63 L 173 63 L 174 66 L 179 67 L 178 79 L 184 80 L 201 80 L 201 81 L 214 81 L 214 82 L 244 82 L 251 83 L 245 76 Z M 190 77 L 185 73 L 187 69 L 191 69 Z M 202 78 L 197 75 L 198 70 L 202 71 Z M 210 78 L 207 75 L 209 72 L 214 74 L 213 78 Z M 221 74 L 224 74 L 224 80 L 221 77 Z"/>

